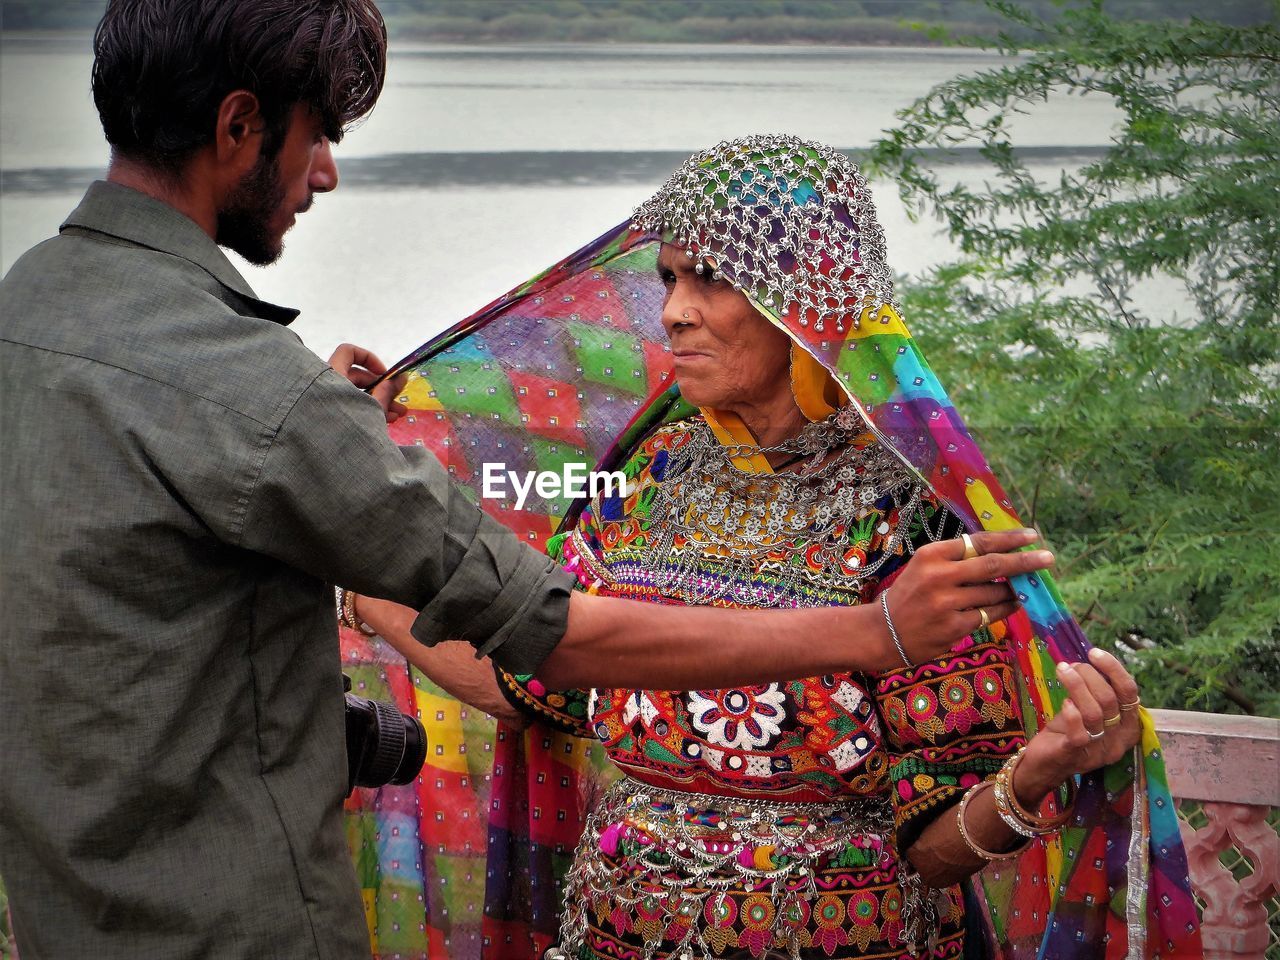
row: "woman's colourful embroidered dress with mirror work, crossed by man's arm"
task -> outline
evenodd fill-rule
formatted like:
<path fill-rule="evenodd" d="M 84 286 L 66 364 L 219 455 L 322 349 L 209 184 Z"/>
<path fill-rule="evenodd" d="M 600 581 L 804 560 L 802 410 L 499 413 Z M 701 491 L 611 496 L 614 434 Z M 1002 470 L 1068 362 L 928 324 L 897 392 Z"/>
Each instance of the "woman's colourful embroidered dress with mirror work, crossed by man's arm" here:
<path fill-rule="evenodd" d="M 959 530 L 865 431 L 796 474 L 741 474 L 699 416 L 655 431 L 623 472 L 627 489 L 552 547 L 584 589 L 637 600 L 865 603 Z M 960 956 L 959 890 L 924 891 L 899 851 L 1023 744 L 996 635 L 883 677 L 594 696 L 502 678 L 626 774 L 570 870 L 570 956 Z"/>

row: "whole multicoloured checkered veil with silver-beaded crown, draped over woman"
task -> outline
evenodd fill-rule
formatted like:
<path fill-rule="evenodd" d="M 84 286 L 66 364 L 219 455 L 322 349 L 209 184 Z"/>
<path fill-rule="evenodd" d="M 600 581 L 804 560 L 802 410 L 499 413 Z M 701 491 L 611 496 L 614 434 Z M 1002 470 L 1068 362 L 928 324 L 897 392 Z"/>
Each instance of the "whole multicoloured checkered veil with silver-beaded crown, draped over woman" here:
<path fill-rule="evenodd" d="M 581 500 L 547 488 L 516 509 L 493 467 L 481 497 L 485 463 L 609 467 L 654 426 L 690 412 L 659 323 L 663 239 L 719 270 L 785 329 L 804 351 L 796 356 L 820 365 L 969 530 L 1021 526 L 899 315 L 865 180 L 844 155 L 791 137 L 691 157 L 632 220 L 415 351 L 393 370 L 410 375 L 411 410 L 393 436 L 428 447 L 484 509 L 541 547 Z M 1055 663 L 1082 660 L 1088 643 L 1050 576 L 1014 586 L 1023 611 L 1009 621 L 1007 643 L 1030 733 L 1064 699 Z M 416 785 L 349 805 L 376 952 L 536 955 L 556 934 L 552 878 L 572 852 L 580 785 L 598 756 L 540 727 L 492 736 L 378 641 L 344 634 L 344 653 L 358 682 L 419 709 L 431 739 Z M 1084 777 L 1057 840 L 980 874 L 972 900 L 992 956 L 1201 956 L 1146 713 L 1142 724 L 1134 756 Z M 488 810 L 486 831 L 476 809 Z"/>

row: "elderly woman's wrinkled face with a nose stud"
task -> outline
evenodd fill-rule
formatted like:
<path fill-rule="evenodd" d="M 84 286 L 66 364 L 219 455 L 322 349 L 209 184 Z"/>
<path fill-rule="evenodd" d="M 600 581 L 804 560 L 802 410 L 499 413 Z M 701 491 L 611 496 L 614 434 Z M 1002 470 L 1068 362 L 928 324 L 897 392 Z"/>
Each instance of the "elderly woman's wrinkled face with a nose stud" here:
<path fill-rule="evenodd" d="M 662 325 L 676 379 L 698 407 L 735 410 L 794 406 L 791 339 L 764 319 L 728 280 L 701 274 L 681 247 L 663 243 L 658 276 L 667 288 Z"/>

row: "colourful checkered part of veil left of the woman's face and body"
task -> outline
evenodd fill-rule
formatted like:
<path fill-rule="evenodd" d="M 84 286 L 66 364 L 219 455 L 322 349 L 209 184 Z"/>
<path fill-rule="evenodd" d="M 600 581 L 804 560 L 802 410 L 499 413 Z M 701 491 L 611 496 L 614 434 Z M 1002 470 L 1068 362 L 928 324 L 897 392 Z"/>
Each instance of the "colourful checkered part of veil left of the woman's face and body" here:
<path fill-rule="evenodd" d="M 410 413 L 392 438 L 430 449 L 543 547 L 573 502 L 531 490 L 516 509 L 509 485 L 483 498 L 484 463 L 593 466 L 668 408 L 689 412 L 675 396 L 646 406 L 671 383 L 655 260 L 652 239 L 611 230 L 416 351 L 396 367 L 410 371 Z M 544 724 L 507 730 L 380 640 L 343 630 L 342 641 L 357 692 L 416 710 L 430 741 L 415 783 L 347 803 L 375 960 L 540 956 L 559 932 L 559 878 L 591 791 L 608 778 L 603 753 Z"/>

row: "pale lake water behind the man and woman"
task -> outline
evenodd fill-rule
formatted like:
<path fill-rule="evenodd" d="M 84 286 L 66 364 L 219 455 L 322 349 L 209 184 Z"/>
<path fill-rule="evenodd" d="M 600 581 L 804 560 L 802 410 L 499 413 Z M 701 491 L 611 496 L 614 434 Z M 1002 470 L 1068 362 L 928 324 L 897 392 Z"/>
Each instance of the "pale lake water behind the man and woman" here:
<path fill-rule="evenodd" d="M 320 197 L 260 296 L 302 308 L 328 356 L 343 339 L 397 360 L 626 218 L 680 160 L 721 140 L 786 132 L 859 150 L 934 83 L 998 67 L 968 50 L 800 46 L 396 45 L 372 116 L 337 148 Z M 52 236 L 105 168 L 88 37 L 0 44 L 0 269 Z M 1051 102 L 1015 125 L 1056 175 L 1110 138 L 1101 100 Z M 975 163 L 948 177 L 980 182 Z M 890 261 L 951 255 L 874 186 Z"/>

